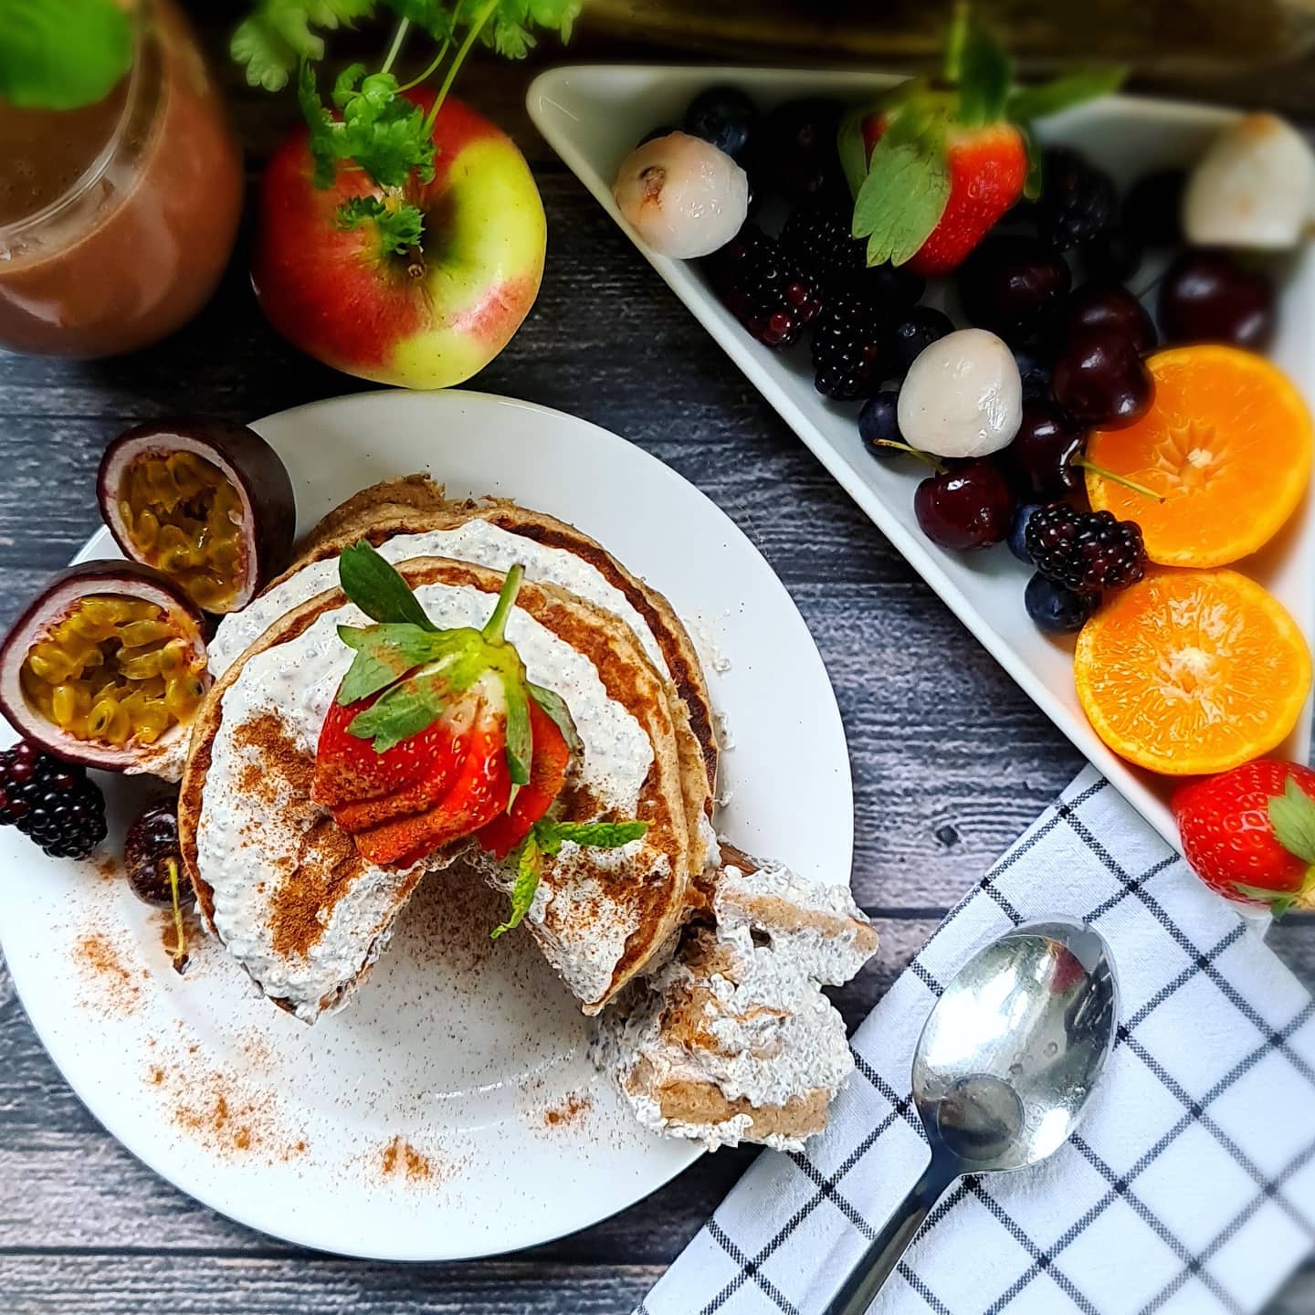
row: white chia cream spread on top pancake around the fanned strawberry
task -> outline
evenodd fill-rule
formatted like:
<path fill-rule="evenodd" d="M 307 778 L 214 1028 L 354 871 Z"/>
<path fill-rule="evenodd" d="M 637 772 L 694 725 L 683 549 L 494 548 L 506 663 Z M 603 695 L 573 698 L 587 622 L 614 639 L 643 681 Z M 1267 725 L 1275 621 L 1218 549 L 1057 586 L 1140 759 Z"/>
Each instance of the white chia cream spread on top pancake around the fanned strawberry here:
<path fill-rule="evenodd" d="M 337 572 L 337 560 L 327 565 Z M 493 597 L 473 586 L 430 584 L 416 593 L 442 629 L 479 629 L 493 608 Z M 409 874 L 363 865 L 321 915 L 323 932 L 306 953 L 276 951 L 275 892 L 299 853 L 308 861 L 308 834 L 325 814 L 308 798 L 293 798 L 284 785 L 271 785 L 274 773 L 262 772 L 268 764 L 259 746 L 246 743 L 250 736 L 242 727 L 274 714 L 306 760 L 314 759 L 320 730 L 351 665 L 351 650 L 337 634 L 339 625 L 368 625 L 368 618 L 352 606 L 325 613 L 295 639 L 254 655 L 224 693 L 196 838 L 197 867 L 214 893 L 214 928 L 221 940 L 266 994 L 285 999 L 312 1022 L 325 1003 L 341 1002 L 342 993 L 377 957 Z M 529 679 L 555 690 L 571 709 L 584 746 L 581 784 L 604 809 L 634 817 L 654 761 L 643 727 L 609 697 L 585 655 L 522 609 L 512 610 L 506 636 Z M 550 894 L 542 892 L 542 899 Z M 542 918 L 540 901 L 535 909 Z M 564 969 L 575 968 L 576 976 L 592 981 L 600 972 L 597 960 L 613 948 L 567 944 L 558 952 Z"/>

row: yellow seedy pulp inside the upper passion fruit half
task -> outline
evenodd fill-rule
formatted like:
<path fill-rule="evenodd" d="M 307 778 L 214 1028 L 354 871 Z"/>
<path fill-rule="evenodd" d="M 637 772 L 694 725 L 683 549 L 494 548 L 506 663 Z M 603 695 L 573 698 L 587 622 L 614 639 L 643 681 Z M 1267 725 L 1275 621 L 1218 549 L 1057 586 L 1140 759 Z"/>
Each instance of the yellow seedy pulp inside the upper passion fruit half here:
<path fill-rule="evenodd" d="M 178 580 L 206 611 L 229 611 L 247 576 L 242 500 L 195 452 L 145 452 L 120 477 L 118 514 L 133 558 Z"/>

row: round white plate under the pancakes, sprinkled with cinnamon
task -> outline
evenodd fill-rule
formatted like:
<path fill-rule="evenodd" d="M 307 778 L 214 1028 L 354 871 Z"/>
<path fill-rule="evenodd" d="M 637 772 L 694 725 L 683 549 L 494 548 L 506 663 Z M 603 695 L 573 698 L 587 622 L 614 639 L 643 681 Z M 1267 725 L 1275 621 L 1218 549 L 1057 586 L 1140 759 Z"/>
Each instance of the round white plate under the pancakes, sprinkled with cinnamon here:
<path fill-rule="evenodd" d="M 341 397 L 255 427 L 288 464 L 301 531 L 368 484 L 429 471 L 601 539 L 709 646 L 734 746 L 719 828 L 848 880 L 849 763 L 822 660 L 757 550 L 680 475 L 575 417 L 468 392 Z M 82 554 L 113 555 L 104 531 Z M 150 788 L 104 782 L 117 852 Z M 529 938 L 489 943 L 488 892 L 426 884 L 355 1002 L 310 1028 L 213 944 L 176 976 L 162 915 L 126 882 L 11 828 L 0 871 L 5 957 L 68 1084 L 156 1173 L 252 1228 L 380 1260 L 481 1256 L 596 1223 L 698 1155 L 621 1107 Z"/>

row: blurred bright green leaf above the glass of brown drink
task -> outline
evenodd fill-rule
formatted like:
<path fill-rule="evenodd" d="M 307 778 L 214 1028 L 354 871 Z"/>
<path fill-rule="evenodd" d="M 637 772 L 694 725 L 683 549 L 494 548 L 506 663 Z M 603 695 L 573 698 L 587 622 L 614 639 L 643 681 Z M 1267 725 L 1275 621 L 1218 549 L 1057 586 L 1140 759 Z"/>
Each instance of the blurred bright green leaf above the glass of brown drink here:
<path fill-rule="evenodd" d="M 132 62 L 132 18 L 114 0 L 0 0 L 0 97 L 12 105 L 93 105 Z"/>

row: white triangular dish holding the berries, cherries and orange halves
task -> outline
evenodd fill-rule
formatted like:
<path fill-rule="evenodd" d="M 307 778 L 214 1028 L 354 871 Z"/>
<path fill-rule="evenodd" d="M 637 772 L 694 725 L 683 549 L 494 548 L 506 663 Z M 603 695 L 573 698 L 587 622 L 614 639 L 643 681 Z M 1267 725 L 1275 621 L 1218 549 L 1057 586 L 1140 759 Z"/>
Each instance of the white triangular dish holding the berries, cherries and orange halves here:
<path fill-rule="evenodd" d="M 526 104 L 552 149 L 842 488 L 1041 711 L 1177 847 L 1178 827 L 1168 803 L 1173 778 L 1130 765 L 1091 730 L 1073 688 L 1072 640 L 1048 639 L 1023 609 L 1027 572 L 1022 563 L 1003 546 L 992 552 L 945 552 L 931 543 L 913 513 L 914 485 L 924 472 L 901 468 L 902 463 L 874 462 L 863 450 L 856 425 L 859 405 L 831 402 L 817 392 L 807 347 L 797 345 L 775 352 L 755 342 L 693 263 L 655 255 L 613 204 L 611 180 L 635 142 L 659 125 L 679 124 L 685 107 L 705 87 L 732 83 L 768 109 L 797 96 L 834 96 L 861 104 L 899 80 L 877 72 L 586 64 L 540 74 Z M 1085 151 L 1126 189 L 1153 168 L 1191 163 L 1220 126 L 1235 117 L 1232 110 L 1205 105 L 1106 96 L 1047 120 L 1041 135 Z M 1148 260 L 1145 284 L 1152 283 L 1160 264 Z M 1312 243 L 1286 262 L 1281 279 L 1279 331 L 1269 355 L 1293 376 L 1306 400 L 1315 402 Z M 945 281 L 934 281 L 926 300 L 945 308 Z M 1239 563 L 1239 569 L 1272 590 L 1307 642 L 1315 642 L 1315 512 L 1310 494 L 1278 537 L 1262 552 Z M 1311 706 L 1307 698 L 1297 729 L 1276 751 L 1281 756 L 1308 761 Z"/>

